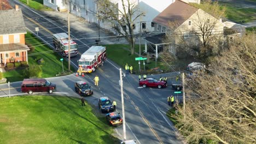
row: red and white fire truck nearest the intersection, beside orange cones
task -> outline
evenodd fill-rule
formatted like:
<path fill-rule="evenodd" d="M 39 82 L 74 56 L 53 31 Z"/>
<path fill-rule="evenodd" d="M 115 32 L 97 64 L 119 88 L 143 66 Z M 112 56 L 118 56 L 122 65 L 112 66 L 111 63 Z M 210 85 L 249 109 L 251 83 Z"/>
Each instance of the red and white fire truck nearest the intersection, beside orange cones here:
<path fill-rule="evenodd" d="M 106 56 L 106 47 L 104 46 L 91 46 L 90 49 L 85 51 L 81 58 L 78 61 L 78 70 L 79 74 L 81 73 L 91 73 L 95 69 L 102 65 Z"/>

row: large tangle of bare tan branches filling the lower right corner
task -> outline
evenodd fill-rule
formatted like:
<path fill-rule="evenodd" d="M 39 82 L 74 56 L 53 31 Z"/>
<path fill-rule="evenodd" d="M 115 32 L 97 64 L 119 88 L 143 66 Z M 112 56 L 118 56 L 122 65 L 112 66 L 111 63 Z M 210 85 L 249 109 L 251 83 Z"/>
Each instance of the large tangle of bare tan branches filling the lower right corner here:
<path fill-rule="evenodd" d="M 176 105 L 176 118 L 188 142 L 256 142 L 255 38 L 249 33 L 237 39 L 214 58 L 210 74 L 187 79 L 186 111 Z"/>

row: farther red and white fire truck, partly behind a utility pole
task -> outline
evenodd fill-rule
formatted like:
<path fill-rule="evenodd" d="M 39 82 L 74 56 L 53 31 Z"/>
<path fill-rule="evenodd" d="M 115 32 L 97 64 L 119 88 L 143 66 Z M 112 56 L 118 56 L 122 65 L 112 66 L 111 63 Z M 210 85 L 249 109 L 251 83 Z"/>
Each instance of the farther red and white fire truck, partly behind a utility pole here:
<path fill-rule="evenodd" d="M 62 56 L 68 57 L 68 35 L 66 33 L 53 34 L 53 45 L 56 50 L 60 50 Z M 70 56 L 77 56 L 77 43 L 70 40 Z"/>

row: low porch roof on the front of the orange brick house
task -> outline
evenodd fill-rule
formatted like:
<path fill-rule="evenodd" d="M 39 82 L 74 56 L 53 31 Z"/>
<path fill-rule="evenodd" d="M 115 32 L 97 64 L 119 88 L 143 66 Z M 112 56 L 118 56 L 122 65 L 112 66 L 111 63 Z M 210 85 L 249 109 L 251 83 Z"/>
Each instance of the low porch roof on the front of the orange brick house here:
<path fill-rule="evenodd" d="M 11 44 L 1 44 L 0 51 L 27 51 L 30 50 L 27 45 L 20 44 L 20 43 L 11 43 Z"/>

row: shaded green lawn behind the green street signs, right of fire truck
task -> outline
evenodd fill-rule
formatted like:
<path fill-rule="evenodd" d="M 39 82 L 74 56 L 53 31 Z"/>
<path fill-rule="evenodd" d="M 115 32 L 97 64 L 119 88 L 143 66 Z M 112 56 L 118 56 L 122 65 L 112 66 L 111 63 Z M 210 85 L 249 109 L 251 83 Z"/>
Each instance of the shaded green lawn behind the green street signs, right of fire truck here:
<path fill-rule="evenodd" d="M 120 65 L 120 67 L 125 67 L 125 64 L 132 65 L 133 71 L 138 74 L 139 72 L 139 65 L 138 61 L 135 61 L 136 57 L 139 57 L 138 55 L 134 54 L 131 55 L 131 52 L 127 49 L 130 49 L 130 45 L 123 45 L 123 44 L 113 44 L 113 45 L 105 45 L 107 48 L 107 57 L 111 59 L 113 62 Z M 136 45 L 135 52 L 139 51 L 139 45 Z M 125 49 L 124 49 L 125 48 Z M 141 46 L 141 51 L 144 50 L 144 46 Z M 145 61 L 146 63 L 146 61 Z M 155 68 L 155 61 L 150 61 L 150 63 L 145 65 L 146 67 L 146 73 L 150 73 L 149 70 L 152 68 Z M 160 69 L 165 69 L 165 66 L 162 64 L 162 62 L 157 63 L 157 67 L 160 67 Z M 141 61 L 141 72 L 144 73 L 144 65 L 143 61 Z"/>

